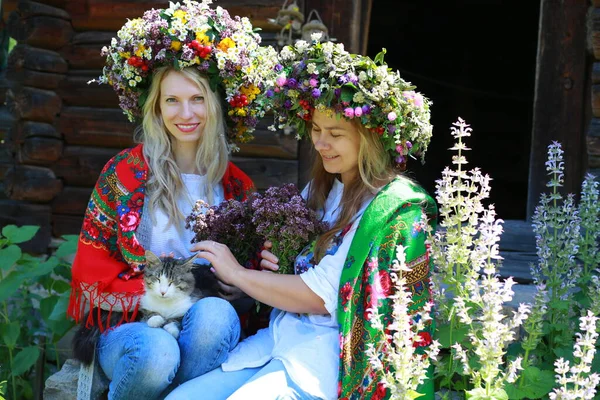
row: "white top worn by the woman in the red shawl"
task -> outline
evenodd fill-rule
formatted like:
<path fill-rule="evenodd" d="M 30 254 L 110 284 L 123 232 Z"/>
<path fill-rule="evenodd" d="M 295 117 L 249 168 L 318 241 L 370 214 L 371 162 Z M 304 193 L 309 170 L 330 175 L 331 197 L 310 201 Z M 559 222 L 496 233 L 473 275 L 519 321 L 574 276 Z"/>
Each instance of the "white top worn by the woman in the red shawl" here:
<path fill-rule="evenodd" d="M 208 201 L 204 192 L 206 177 L 204 175 L 181 174 L 181 180 L 190 196 L 188 198 L 184 193 L 181 193 L 177 198 L 177 205 L 183 215 L 187 217 L 192 212 L 192 207 L 196 200 Z M 213 197 L 214 201 L 210 204 L 211 206 L 219 204 L 225 199 L 221 182 L 213 185 Z M 185 229 L 185 221 L 180 223 L 179 229 L 177 229 L 175 224 L 172 224 L 165 230 L 165 227 L 169 223 L 169 218 L 158 207 L 155 207 L 153 211 L 155 213 L 156 224 L 152 224 L 152 216 L 149 212 L 149 200 L 146 198 L 142 211 L 142 221 L 136 232 L 140 244 L 157 256 L 173 253 L 175 258 L 190 257 L 193 254 L 190 248 L 194 232 L 191 229 Z"/>

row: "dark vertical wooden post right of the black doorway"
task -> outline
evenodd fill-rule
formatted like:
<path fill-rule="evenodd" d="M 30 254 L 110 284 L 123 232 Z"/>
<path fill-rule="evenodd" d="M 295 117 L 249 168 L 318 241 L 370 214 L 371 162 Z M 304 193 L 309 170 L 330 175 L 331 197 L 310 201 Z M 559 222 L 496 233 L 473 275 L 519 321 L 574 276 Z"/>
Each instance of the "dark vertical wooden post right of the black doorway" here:
<path fill-rule="evenodd" d="M 586 83 L 586 2 L 542 0 L 536 67 L 527 219 L 546 188 L 547 146 L 565 150 L 565 192 L 576 193 L 584 172 L 583 104 Z"/>

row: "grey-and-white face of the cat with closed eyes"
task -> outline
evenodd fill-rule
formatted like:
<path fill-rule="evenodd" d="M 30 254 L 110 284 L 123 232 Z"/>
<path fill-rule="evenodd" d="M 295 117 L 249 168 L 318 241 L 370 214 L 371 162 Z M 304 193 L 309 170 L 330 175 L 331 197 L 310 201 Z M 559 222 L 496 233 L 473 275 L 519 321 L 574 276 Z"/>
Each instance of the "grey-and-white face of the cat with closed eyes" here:
<path fill-rule="evenodd" d="M 194 291 L 195 279 L 192 270 L 195 257 L 176 259 L 158 258 L 146 251 L 146 268 L 144 284 L 146 293 L 156 297 L 173 298 L 182 294 L 189 295 Z"/>

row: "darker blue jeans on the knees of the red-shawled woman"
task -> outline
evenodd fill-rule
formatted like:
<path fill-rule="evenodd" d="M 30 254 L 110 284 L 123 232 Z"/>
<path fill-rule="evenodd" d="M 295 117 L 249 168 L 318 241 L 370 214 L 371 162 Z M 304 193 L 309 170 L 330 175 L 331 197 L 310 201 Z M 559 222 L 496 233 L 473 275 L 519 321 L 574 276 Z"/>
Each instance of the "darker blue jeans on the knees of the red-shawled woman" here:
<path fill-rule="evenodd" d="M 178 339 L 145 322 L 123 324 L 101 335 L 97 345 L 98 362 L 111 380 L 108 398 L 157 399 L 169 385 L 220 366 L 239 338 L 235 310 L 216 297 L 201 299 L 188 310 Z"/>

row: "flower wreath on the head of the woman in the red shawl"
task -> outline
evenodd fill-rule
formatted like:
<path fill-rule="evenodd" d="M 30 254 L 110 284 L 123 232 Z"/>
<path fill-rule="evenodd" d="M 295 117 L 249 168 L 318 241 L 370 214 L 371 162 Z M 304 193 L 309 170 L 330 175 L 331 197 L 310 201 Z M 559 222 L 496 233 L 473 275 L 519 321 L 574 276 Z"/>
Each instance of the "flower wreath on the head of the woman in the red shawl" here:
<path fill-rule="evenodd" d="M 146 11 L 127 21 L 102 49 L 106 57 L 99 83 L 108 83 L 119 96 L 119 106 L 130 121 L 142 116 L 152 72 L 163 66 L 178 70 L 195 66 L 208 77 L 210 87 L 222 90 L 226 101 L 229 141 L 252 139 L 258 119 L 268 108 L 264 96 L 272 86 L 277 54 L 261 47 L 260 35 L 248 18 L 231 18 L 227 10 L 184 0 L 167 9 Z"/>

